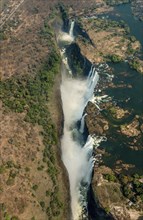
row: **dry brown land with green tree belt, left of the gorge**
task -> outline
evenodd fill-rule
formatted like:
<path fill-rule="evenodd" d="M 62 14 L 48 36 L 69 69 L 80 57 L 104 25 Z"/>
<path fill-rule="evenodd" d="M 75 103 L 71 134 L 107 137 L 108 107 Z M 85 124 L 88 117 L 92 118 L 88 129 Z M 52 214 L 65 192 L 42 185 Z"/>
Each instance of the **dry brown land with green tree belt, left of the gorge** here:
<path fill-rule="evenodd" d="M 23 5 L 21 10 L 25 7 L 29 6 Z M 40 7 L 43 18 L 36 19 L 35 26 L 29 23 L 29 28 L 34 30 L 26 35 L 25 46 L 21 45 L 21 33 L 27 31 L 25 20 L 22 28 L 7 28 L 5 32 L 9 33 L 9 39 L 2 39 L 4 49 L 6 42 L 12 44 L 15 35 L 19 38 L 11 50 L 6 48 L 2 60 L 22 46 L 23 60 L 27 61 L 26 68 L 24 61 L 19 62 L 20 71 L 10 68 L 16 65 L 18 55 L 15 60 L 8 60 L 8 71 L 2 66 L 1 219 L 70 219 L 68 177 L 60 152 L 63 120 L 59 96 L 61 59 L 47 10 L 43 11 L 43 4 Z M 31 11 L 27 13 L 30 16 Z M 38 13 L 37 17 L 40 15 Z M 30 48 L 28 43 L 33 54 L 29 59 L 26 55 Z"/>

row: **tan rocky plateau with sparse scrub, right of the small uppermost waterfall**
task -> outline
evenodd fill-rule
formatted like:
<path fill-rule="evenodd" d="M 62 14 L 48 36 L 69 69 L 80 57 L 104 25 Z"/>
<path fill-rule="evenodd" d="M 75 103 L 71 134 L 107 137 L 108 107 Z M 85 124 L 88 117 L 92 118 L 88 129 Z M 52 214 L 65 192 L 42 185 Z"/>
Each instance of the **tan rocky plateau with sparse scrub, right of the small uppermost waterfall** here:
<path fill-rule="evenodd" d="M 82 18 L 80 23 L 88 33 L 90 41 L 80 36 L 77 38 L 77 43 L 80 45 L 81 53 L 90 62 L 102 63 L 109 59 L 120 62 L 128 59 L 129 45 L 136 51 L 141 47 L 139 42 L 132 43 L 126 38 L 126 30 L 118 22 L 95 17 L 94 19 Z"/>

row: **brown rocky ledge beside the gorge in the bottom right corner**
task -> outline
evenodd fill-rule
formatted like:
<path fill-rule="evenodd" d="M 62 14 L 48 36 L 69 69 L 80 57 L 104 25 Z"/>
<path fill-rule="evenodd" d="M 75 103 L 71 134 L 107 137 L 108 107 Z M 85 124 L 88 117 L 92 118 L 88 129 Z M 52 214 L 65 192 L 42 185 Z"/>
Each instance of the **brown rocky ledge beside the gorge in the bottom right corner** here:
<path fill-rule="evenodd" d="M 129 209 L 129 201 L 122 195 L 121 185 L 114 181 L 106 180 L 104 175 L 114 175 L 113 171 L 105 166 L 95 168 L 92 180 L 95 197 L 104 210 L 115 220 L 136 220 L 139 212 Z"/>

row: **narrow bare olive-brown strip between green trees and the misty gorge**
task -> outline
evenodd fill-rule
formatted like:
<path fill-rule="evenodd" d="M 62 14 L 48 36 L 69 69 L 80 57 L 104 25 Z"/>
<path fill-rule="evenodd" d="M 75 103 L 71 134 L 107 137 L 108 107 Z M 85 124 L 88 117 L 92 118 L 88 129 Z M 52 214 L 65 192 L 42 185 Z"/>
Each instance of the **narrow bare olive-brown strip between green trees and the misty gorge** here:
<path fill-rule="evenodd" d="M 55 146 L 54 151 L 57 155 L 57 164 L 59 166 L 59 178 L 58 182 L 59 185 L 59 191 L 60 191 L 60 197 L 61 200 L 64 201 L 64 214 L 61 216 L 62 219 L 70 219 L 71 218 L 71 199 L 70 199 L 70 186 L 69 186 L 69 177 L 68 172 L 63 164 L 62 158 L 62 152 L 61 152 L 61 138 L 63 135 L 63 109 L 62 109 L 62 100 L 61 100 L 61 72 L 58 73 L 54 80 L 54 85 L 51 91 L 51 95 L 48 102 L 48 109 L 50 111 L 50 115 L 52 118 L 52 121 L 54 122 L 56 132 L 58 134 L 58 143 L 57 146 Z"/>

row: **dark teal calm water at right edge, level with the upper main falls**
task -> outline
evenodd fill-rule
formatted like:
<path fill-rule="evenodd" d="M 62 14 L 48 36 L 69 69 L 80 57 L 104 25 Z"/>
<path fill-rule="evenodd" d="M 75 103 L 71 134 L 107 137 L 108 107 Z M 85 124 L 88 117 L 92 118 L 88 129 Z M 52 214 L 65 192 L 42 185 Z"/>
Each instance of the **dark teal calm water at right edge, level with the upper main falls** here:
<path fill-rule="evenodd" d="M 110 96 L 114 96 L 114 100 L 118 104 L 132 110 L 135 114 L 143 113 L 143 75 L 129 67 L 128 63 L 110 64 L 114 69 L 115 85 L 124 85 L 124 88 L 112 88 L 107 92 Z M 128 100 L 128 101 L 127 101 Z"/>

